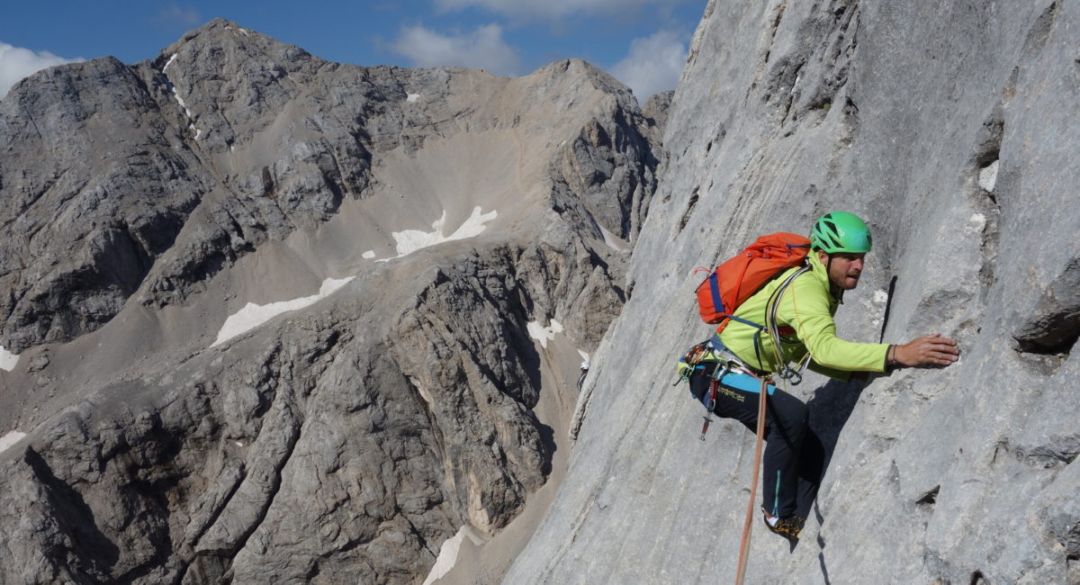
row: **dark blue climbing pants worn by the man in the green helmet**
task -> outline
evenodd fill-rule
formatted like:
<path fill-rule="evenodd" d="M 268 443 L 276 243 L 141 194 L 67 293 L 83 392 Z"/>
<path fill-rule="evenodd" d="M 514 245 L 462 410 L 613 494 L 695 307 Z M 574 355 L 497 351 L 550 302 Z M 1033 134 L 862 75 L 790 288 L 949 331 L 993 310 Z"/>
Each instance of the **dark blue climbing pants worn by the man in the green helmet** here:
<path fill-rule="evenodd" d="M 708 373 L 690 376 L 690 392 L 699 400 L 707 394 L 711 379 Z M 713 412 L 734 419 L 756 434 L 760 382 L 753 381 L 754 384 L 739 384 L 743 389 L 721 383 Z M 755 390 L 744 390 L 747 386 Z M 770 390 L 765 440 L 761 507 L 781 518 L 792 514 L 806 518 L 818 495 L 825 464 L 825 449 L 810 428 L 807 405 L 782 390 Z"/>

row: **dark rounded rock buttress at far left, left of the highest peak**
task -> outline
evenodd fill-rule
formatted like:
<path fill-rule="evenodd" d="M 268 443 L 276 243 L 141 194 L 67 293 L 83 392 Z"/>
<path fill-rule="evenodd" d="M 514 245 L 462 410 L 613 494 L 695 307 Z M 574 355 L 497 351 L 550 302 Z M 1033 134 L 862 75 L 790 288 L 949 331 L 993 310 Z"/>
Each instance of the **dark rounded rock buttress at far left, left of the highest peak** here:
<path fill-rule="evenodd" d="M 51 68 L 0 101 L 4 345 L 100 327 L 139 288 L 207 190 L 136 72 Z"/>

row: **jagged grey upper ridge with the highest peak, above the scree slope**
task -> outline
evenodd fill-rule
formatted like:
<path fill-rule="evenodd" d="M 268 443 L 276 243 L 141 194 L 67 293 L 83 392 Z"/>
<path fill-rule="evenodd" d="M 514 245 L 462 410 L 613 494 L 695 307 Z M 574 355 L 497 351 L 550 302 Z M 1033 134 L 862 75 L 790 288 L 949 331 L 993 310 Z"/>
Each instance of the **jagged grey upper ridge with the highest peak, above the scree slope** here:
<path fill-rule="evenodd" d="M 3 345 L 68 341 L 132 295 L 184 304 L 259 244 L 368 196 L 379 153 L 519 127 L 515 108 L 592 111 L 546 161 L 550 196 L 590 234 L 599 221 L 632 240 L 656 189 L 656 133 L 643 134 L 639 111 L 622 113 L 624 87 L 583 63 L 529 79 L 523 92 L 480 71 L 327 63 L 220 19 L 152 63 L 105 58 L 35 77 L 0 108 L 0 188 L 13 202 L 0 220 L 17 234 L 0 244 L 12 291 L 0 301 Z M 499 115 L 476 114 L 485 99 Z"/>

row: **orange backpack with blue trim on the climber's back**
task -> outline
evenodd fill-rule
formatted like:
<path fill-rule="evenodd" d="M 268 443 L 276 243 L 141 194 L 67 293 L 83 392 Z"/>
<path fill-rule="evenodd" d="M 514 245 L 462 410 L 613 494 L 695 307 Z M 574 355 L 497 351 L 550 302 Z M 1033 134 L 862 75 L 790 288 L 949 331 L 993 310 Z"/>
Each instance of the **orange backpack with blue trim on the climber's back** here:
<path fill-rule="evenodd" d="M 732 318 L 762 328 L 733 316 L 735 310 L 785 270 L 804 266 L 809 251 L 810 240 L 798 234 L 777 232 L 758 237 L 746 249 L 710 271 L 698 285 L 701 318 L 708 324 L 718 323 L 716 332 L 723 331 Z M 708 269 L 699 268 L 694 273 L 705 270 Z"/>

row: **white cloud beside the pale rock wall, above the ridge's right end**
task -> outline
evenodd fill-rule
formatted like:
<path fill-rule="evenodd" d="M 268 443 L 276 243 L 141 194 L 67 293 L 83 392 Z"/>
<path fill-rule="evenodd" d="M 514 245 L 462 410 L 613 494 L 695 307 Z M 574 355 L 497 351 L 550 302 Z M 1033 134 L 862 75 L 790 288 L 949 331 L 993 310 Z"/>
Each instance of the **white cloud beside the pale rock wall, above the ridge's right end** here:
<path fill-rule="evenodd" d="M 630 43 L 626 57 L 611 67 L 610 72 L 625 83 L 638 101 L 652 94 L 674 90 L 686 66 L 686 43 L 674 30 L 659 30 Z"/>

